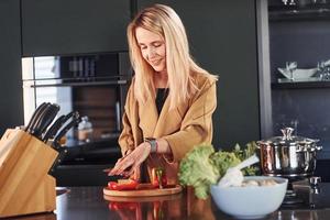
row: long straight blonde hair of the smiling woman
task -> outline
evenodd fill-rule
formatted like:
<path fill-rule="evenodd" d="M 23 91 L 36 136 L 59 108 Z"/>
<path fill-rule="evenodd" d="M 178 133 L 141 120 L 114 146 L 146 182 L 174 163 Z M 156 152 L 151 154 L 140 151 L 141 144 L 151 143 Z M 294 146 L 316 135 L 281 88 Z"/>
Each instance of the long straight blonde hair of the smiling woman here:
<path fill-rule="evenodd" d="M 154 69 L 142 57 L 135 37 L 135 30 L 139 26 L 156 33 L 165 40 L 170 109 L 190 98 L 198 90 L 191 73 L 216 77 L 193 61 L 186 30 L 177 13 L 167 6 L 154 4 L 138 13 L 128 26 L 130 58 L 135 72 L 134 92 L 140 102 L 145 102 L 147 97 L 155 97 L 155 85 L 153 81 Z"/>

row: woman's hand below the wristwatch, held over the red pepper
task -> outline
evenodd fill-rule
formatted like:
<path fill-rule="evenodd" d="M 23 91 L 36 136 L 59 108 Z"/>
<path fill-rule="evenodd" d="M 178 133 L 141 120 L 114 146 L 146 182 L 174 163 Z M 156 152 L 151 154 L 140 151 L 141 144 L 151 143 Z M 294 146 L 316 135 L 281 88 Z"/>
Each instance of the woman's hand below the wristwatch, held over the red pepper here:
<path fill-rule="evenodd" d="M 131 176 L 133 172 L 140 167 L 140 165 L 147 158 L 151 153 L 151 145 L 147 142 L 143 142 L 131 153 L 124 157 L 118 160 L 116 166 L 111 169 L 109 175 L 123 175 Z M 129 170 L 127 168 L 131 167 Z"/>

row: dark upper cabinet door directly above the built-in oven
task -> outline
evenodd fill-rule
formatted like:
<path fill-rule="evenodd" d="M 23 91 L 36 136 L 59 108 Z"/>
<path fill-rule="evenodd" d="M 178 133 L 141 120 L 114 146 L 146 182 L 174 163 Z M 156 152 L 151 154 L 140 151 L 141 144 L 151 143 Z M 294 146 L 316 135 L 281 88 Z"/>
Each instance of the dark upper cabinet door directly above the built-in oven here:
<path fill-rule="evenodd" d="M 22 1 L 23 56 L 125 51 L 129 0 Z"/>

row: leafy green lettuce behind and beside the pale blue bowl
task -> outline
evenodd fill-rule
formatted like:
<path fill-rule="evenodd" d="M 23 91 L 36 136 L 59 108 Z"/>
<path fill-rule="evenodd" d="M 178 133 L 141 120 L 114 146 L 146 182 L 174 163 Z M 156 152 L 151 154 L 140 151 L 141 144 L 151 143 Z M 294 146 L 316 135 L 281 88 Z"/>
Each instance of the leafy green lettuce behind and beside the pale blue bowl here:
<path fill-rule="evenodd" d="M 193 186 L 196 197 L 206 199 L 210 186 L 217 184 L 227 169 L 235 166 L 255 153 L 255 143 L 249 143 L 245 150 L 237 144 L 232 152 L 216 152 L 211 144 L 195 146 L 182 160 L 178 179 L 183 186 Z M 257 168 L 250 166 L 242 172 L 244 175 L 255 175 Z"/>

